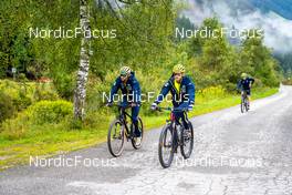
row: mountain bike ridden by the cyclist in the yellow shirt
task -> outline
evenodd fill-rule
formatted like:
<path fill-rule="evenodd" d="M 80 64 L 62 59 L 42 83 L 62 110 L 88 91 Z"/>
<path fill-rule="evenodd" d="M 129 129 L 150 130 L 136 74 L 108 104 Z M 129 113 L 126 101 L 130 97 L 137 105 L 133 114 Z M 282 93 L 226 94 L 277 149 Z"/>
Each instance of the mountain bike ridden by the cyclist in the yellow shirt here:
<path fill-rule="evenodd" d="M 189 158 L 194 148 L 194 130 L 191 123 L 187 119 L 186 110 L 177 110 L 171 107 L 157 107 L 157 111 L 170 111 L 170 117 L 166 121 L 159 136 L 158 157 L 161 166 L 167 168 L 171 165 L 174 154 L 180 146 L 180 153 L 184 158 Z M 175 117 L 175 112 L 184 112 L 188 122 L 188 130 L 185 130 L 181 122 Z"/>

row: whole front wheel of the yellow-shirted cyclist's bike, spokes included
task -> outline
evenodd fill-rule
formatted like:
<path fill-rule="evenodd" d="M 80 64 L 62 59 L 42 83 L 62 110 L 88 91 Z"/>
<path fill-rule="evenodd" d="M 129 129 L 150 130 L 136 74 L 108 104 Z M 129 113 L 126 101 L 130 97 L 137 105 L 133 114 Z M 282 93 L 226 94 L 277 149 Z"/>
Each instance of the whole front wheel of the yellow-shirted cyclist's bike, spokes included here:
<path fill-rule="evenodd" d="M 174 160 L 174 137 L 173 137 L 173 130 L 169 124 L 167 124 L 159 137 L 158 144 L 158 156 L 159 162 L 164 168 L 167 168 L 171 165 Z"/>

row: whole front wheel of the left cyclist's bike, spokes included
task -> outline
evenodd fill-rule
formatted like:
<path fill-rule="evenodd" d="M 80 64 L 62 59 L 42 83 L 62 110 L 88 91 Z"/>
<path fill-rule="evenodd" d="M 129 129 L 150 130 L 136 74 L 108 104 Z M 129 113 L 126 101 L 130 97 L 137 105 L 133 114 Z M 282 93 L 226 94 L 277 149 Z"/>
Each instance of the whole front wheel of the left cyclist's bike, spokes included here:
<path fill-rule="evenodd" d="M 114 157 L 121 156 L 124 150 L 124 143 L 125 143 L 124 129 L 125 127 L 119 120 L 113 121 L 112 124 L 109 125 L 107 133 L 107 146 L 109 153 Z"/>

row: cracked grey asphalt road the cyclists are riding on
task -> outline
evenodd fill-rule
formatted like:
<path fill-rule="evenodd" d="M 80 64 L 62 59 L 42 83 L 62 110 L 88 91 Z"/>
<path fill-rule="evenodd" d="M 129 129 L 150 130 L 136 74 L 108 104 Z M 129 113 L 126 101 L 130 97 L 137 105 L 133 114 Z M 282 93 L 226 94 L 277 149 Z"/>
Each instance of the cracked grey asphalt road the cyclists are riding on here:
<path fill-rule="evenodd" d="M 156 129 L 146 133 L 143 148 L 127 143 L 118 158 L 106 144 L 54 156 L 51 163 L 33 156 L 31 165 L 0 173 L 0 194 L 292 195 L 291 86 L 253 101 L 249 113 L 234 106 L 191 122 L 192 156 L 182 161 L 178 153 L 170 168 L 159 165 Z"/>

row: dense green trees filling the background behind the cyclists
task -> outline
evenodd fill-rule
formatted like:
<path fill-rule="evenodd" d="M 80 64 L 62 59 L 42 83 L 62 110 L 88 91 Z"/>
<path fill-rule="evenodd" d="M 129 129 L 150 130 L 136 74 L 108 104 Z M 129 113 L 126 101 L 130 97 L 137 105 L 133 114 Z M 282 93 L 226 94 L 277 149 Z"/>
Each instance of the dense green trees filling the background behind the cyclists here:
<path fill-rule="evenodd" d="M 254 76 L 259 85 L 278 85 L 280 66 L 263 45 L 263 38 L 247 38 L 240 48 L 231 45 L 223 35 L 220 39 L 174 39 L 175 28 L 194 28 L 187 18 L 178 17 L 182 8 L 184 4 L 171 0 L 152 4 L 147 1 L 88 1 L 90 27 L 98 29 L 100 33 L 88 48 L 88 82 L 95 82 L 98 91 L 107 90 L 122 64 L 142 72 L 142 80 L 156 82 L 166 79 L 164 75 L 170 73 L 174 64 L 182 63 L 198 89 L 222 85 L 231 90 L 241 72 Z M 32 79 L 48 76 L 60 98 L 72 101 L 81 38 L 54 38 L 48 32 L 79 27 L 79 12 L 77 0 L 1 2 L 0 76 L 11 74 L 12 68 L 17 69 L 19 78 L 23 74 Z M 198 28 L 204 27 L 215 30 L 222 25 L 211 18 Z M 35 29 L 45 31 L 46 37 L 38 38 Z M 286 63 L 282 62 L 285 71 L 290 65 L 286 59 Z M 153 86 L 143 90 L 157 91 L 157 86 Z"/>

